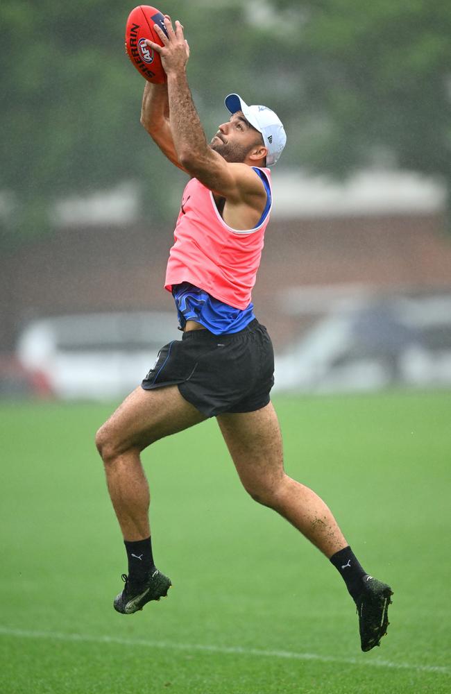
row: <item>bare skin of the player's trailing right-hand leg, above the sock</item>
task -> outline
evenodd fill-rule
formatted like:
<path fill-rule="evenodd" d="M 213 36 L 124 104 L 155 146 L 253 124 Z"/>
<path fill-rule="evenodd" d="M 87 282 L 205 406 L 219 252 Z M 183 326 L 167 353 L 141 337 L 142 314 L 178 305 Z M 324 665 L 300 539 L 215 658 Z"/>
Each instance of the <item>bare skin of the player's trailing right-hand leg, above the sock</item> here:
<path fill-rule="evenodd" d="M 221 414 L 217 421 L 250 496 L 287 518 L 326 557 L 348 545 L 323 500 L 284 473 L 282 437 L 271 403 L 256 412 Z"/>

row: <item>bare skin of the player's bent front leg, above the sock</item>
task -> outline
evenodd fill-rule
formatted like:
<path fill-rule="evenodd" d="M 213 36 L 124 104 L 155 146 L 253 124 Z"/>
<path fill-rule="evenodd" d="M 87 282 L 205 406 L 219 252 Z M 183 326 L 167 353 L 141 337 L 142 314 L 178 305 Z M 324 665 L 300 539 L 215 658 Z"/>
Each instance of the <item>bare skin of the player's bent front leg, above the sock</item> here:
<path fill-rule="evenodd" d="M 124 540 L 150 534 L 150 494 L 139 457 L 150 443 L 203 421 L 176 386 L 145 391 L 138 387 L 96 434 L 112 505 Z"/>

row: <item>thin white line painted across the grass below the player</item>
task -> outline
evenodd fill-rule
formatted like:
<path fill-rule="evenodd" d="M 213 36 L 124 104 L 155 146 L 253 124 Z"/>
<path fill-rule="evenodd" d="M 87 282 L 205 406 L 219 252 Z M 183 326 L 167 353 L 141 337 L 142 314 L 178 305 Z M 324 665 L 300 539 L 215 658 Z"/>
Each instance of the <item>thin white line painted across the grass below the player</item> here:
<path fill-rule="evenodd" d="M 64 634 L 62 632 L 38 632 L 27 629 L 10 629 L 0 626 L 0 635 L 18 636 L 19 638 L 47 638 L 56 641 L 80 641 L 81 643 L 114 643 L 123 646 L 144 646 L 167 650 L 199 651 L 204 653 L 222 653 L 232 655 L 255 656 L 260 658 L 284 658 L 287 660 L 310 660 L 320 663 L 342 663 L 343 665 L 371 666 L 373 668 L 391 668 L 393 670 L 414 670 L 416 672 L 439 672 L 451 675 L 451 669 L 444 666 L 411 665 L 410 663 L 392 663 L 386 660 L 366 660 L 362 655 L 357 658 L 339 658 L 316 653 L 296 653 L 284 650 L 261 650 L 244 646 L 215 646 L 201 643 L 173 643 L 173 641 L 147 641 L 142 638 L 120 638 L 119 636 L 91 636 L 90 634 Z"/>

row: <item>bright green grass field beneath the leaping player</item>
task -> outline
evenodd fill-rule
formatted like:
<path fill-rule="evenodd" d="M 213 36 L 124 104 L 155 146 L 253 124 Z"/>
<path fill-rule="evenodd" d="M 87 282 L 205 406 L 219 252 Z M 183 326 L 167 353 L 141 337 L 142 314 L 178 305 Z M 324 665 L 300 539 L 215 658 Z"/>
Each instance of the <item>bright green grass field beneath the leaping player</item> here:
<path fill-rule="evenodd" d="M 382 648 L 360 652 L 338 573 L 246 496 L 215 421 L 145 452 L 174 587 L 115 613 L 126 561 L 93 444 L 113 405 L 0 405 L 2 693 L 451 691 L 451 393 L 275 405 L 287 471 L 393 586 Z"/>

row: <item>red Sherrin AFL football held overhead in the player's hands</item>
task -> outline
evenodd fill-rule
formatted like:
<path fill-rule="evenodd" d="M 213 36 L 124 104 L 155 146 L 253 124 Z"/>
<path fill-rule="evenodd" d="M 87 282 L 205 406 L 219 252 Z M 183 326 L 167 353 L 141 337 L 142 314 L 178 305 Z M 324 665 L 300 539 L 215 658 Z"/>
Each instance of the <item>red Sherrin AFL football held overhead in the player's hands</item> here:
<path fill-rule="evenodd" d="M 126 51 L 137 71 L 148 82 L 163 84 L 166 73 L 161 64 L 160 56 L 146 45 L 146 39 L 162 46 L 162 41 L 155 32 L 153 25 L 161 26 L 164 33 L 164 16 L 160 10 L 149 5 L 138 5 L 128 15 L 126 24 Z"/>

